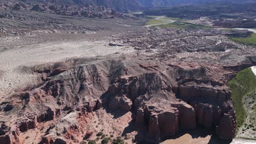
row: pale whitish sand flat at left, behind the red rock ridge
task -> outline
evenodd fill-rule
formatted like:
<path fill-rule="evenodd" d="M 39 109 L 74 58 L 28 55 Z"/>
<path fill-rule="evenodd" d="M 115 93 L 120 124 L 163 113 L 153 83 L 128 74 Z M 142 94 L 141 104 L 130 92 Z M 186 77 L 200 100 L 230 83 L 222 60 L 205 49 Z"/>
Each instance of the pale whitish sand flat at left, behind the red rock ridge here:
<path fill-rule="evenodd" d="M 102 41 L 70 41 L 26 45 L 22 49 L 11 49 L 0 53 L 0 100 L 13 94 L 15 88 L 33 85 L 36 76 L 20 73 L 21 65 L 58 62 L 73 57 L 106 56 L 115 52 L 129 53 L 131 47 L 108 46 Z"/>

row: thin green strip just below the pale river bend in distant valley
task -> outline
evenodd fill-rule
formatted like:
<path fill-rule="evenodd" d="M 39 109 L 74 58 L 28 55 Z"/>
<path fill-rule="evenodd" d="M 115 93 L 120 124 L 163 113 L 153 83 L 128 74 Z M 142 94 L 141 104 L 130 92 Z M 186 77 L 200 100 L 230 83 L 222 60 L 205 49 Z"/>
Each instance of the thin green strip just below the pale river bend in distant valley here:
<path fill-rule="evenodd" d="M 193 23 L 187 23 L 187 22 L 172 22 L 168 23 L 165 25 L 158 25 L 155 27 L 162 27 L 162 28 L 178 28 L 178 29 L 190 29 L 190 28 L 211 28 L 211 27 L 206 27 L 206 26 L 201 26 L 201 25 L 195 25 Z"/>

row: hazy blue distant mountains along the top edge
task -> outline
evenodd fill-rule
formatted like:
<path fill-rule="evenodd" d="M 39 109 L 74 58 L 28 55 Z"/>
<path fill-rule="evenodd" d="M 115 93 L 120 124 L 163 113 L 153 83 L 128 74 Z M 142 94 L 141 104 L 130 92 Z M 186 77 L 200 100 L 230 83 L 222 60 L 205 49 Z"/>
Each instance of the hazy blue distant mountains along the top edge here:
<path fill-rule="evenodd" d="M 79 5 L 103 6 L 117 11 L 138 11 L 145 8 L 176 7 L 189 4 L 208 4 L 214 2 L 250 3 L 256 0 L 0 0 L 1 3 L 19 2 L 26 4 L 53 4 L 53 5 Z"/>

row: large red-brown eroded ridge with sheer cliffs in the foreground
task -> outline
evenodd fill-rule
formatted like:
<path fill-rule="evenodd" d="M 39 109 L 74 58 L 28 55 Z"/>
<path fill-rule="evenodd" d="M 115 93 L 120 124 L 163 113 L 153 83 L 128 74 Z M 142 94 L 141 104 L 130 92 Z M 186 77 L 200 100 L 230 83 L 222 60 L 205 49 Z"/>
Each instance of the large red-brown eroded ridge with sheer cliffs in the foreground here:
<path fill-rule="evenodd" d="M 235 136 L 236 115 L 230 91 L 216 69 L 119 59 L 125 57 L 73 59 L 32 68 L 42 83 L 1 105 L 5 112 L 27 114 L 12 119 L 16 122 L 10 127 L 12 132 L 3 125 L 0 139 L 19 143 L 19 133 L 48 123 L 42 143 L 78 141 L 77 137 L 92 135 L 84 130 L 88 131 L 92 113 L 101 107 L 113 115 L 119 111 L 133 113 L 134 129 L 144 130 L 145 139 L 151 142 L 194 129 L 197 124 L 216 128 L 223 139 Z"/>

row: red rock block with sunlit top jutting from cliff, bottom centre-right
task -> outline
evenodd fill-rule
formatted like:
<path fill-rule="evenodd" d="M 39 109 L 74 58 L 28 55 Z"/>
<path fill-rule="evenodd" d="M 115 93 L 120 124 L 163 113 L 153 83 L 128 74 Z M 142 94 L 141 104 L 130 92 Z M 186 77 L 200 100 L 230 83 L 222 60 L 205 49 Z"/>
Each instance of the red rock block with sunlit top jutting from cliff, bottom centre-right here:
<path fill-rule="evenodd" d="M 194 108 L 184 101 L 145 104 L 136 113 L 137 127 L 147 127 L 148 139 L 160 141 L 176 135 L 179 130 L 196 127 Z"/>

